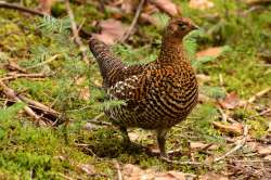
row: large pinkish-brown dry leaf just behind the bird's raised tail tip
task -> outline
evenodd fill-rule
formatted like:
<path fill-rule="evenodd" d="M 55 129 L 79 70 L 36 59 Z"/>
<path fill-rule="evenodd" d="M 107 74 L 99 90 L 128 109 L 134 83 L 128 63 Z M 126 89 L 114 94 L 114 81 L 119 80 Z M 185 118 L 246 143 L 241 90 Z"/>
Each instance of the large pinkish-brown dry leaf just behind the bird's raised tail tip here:
<path fill-rule="evenodd" d="M 121 39 L 128 30 L 128 26 L 120 21 L 108 18 L 100 22 L 102 28 L 101 34 L 93 34 L 93 37 L 103 41 L 106 44 L 114 44 L 117 40 Z"/>

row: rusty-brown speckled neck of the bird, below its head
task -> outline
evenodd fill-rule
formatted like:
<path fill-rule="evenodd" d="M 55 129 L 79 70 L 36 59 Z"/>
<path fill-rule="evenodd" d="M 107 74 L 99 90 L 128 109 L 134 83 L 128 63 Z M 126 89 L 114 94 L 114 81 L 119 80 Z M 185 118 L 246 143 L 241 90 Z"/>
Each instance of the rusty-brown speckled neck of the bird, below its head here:
<path fill-rule="evenodd" d="M 182 64 L 188 63 L 188 57 L 184 52 L 182 39 L 164 37 L 162 40 L 160 54 L 157 63 L 162 65 L 167 64 Z"/>

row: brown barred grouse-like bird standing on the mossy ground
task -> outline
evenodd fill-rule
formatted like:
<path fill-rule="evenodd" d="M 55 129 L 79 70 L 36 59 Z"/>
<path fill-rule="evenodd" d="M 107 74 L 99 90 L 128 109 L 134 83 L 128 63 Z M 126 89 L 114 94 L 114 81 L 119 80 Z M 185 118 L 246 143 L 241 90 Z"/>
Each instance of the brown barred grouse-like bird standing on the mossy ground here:
<path fill-rule="evenodd" d="M 125 103 L 104 110 L 119 127 L 126 143 L 127 128 L 154 130 L 160 156 L 166 154 L 166 134 L 197 104 L 198 85 L 185 53 L 183 39 L 198 27 L 188 17 L 175 17 L 167 24 L 157 59 L 147 64 L 126 65 L 108 46 L 92 37 L 89 48 L 99 64 L 103 88 L 111 100 Z"/>

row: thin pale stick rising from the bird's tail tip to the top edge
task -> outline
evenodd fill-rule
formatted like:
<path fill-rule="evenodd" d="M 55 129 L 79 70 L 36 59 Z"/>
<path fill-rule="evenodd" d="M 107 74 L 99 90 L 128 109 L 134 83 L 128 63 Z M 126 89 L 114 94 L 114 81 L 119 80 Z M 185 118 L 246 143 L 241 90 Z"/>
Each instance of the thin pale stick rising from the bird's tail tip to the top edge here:
<path fill-rule="evenodd" d="M 87 48 L 82 44 L 82 41 L 79 38 L 77 25 L 75 22 L 75 16 L 74 16 L 73 10 L 70 9 L 70 5 L 69 5 L 69 0 L 65 0 L 65 4 L 66 4 L 67 14 L 69 16 L 69 22 L 70 22 L 70 26 L 72 26 L 72 31 L 74 34 L 75 42 L 79 47 L 79 50 L 80 50 L 81 55 L 82 55 L 82 60 L 89 64 L 90 60 L 88 59 L 88 55 L 87 55 Z"/>

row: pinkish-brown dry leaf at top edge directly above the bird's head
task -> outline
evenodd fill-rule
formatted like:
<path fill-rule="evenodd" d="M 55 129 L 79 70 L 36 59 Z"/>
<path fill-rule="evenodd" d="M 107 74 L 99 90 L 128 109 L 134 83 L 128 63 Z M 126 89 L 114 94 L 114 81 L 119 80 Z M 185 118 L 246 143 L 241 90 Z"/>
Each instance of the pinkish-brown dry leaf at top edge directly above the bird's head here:
<path fill-rule="evenodd" d="M 171 0 L 151 0 L 151 3 L 170 16 L 178 16 L 181 14 L 178 7 Z"/>

